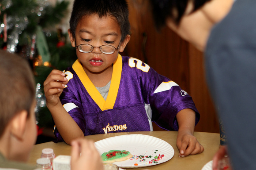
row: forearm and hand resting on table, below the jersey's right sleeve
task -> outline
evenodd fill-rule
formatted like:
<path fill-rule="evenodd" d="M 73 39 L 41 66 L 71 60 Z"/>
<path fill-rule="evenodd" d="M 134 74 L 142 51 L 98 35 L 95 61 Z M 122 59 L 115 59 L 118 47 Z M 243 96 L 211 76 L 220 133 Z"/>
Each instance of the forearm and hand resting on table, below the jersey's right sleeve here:
<path fill-rule="evenodd" d="M 192 109 L 183 109 L 177 113 L 176 118 L 179 125 L 176 142 L 180 151 L 179 156 L 184 157 L 202 153 L 203 146 L 193 136 L 196 119 L 195 112 Z"/>

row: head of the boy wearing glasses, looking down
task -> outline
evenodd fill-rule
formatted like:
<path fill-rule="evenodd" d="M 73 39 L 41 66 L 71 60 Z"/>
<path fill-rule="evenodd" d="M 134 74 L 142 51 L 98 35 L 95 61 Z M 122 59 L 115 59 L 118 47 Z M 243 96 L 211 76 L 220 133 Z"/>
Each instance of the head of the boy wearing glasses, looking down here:
<path fill-rule="evenodd" d="M 85 71 L 108 69 L 124 51 L 130 40 L 128 15 L 125 0 L 74 1 L 69 37 Z"/>

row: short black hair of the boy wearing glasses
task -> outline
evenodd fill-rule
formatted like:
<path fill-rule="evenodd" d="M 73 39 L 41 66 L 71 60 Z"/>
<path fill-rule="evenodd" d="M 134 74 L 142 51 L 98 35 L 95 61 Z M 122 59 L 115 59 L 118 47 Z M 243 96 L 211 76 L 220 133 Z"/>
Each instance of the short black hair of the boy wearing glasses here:
<path fill-rule="evenodd" d="M 85 15 L 98 14 L 99 18 L 110 15 L 120 25 L 122 38 L 130 34 L 129 10 L 126 0 L 75 0 L 69 20 L 70 31 L 75 37 L 78 22 Z"/>

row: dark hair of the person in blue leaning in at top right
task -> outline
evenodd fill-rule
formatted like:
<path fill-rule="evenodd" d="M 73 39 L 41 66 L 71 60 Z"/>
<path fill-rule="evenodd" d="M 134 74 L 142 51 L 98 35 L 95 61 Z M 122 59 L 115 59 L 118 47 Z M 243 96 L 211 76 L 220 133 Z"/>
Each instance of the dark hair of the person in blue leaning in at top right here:
<path fill-rule="evenodd" d="M 190 0 L 150 0 L 157 29 L 160 29 L 166 24 L 166 18 L 168 17 L 172 18 L 176 25 L 179 25 L 189 1 Z M 210 0 L 192 0 L 194 6 L 193 11 L 196 11 L 208 1 Z"/>

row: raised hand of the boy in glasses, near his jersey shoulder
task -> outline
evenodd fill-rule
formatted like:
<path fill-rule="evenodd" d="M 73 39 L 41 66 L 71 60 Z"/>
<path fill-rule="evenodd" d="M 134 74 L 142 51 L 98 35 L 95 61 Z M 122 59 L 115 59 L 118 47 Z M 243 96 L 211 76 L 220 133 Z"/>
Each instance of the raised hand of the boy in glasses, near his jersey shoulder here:
<path fill-rule="evenodd" d="M 47 105 L 57 105 L 60 94 L 68 83 L 66 75 L 60 70 L 53 70 L 44 82 L 44 91 Z"/>

